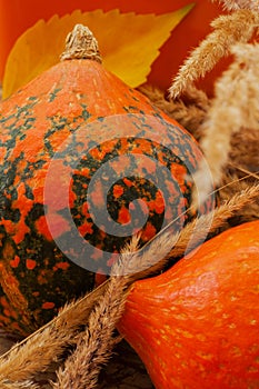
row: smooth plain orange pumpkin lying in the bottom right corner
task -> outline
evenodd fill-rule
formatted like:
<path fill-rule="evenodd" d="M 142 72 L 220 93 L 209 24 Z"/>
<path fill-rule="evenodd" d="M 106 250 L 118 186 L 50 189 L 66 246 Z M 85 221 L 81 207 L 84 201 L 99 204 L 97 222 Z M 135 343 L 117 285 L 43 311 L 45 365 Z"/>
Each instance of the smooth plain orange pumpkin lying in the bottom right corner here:
<path fill-rule="evenodd" d="M 259 220 L 131 286 L 118 325 L 159 389 L 259 387 Z"/>

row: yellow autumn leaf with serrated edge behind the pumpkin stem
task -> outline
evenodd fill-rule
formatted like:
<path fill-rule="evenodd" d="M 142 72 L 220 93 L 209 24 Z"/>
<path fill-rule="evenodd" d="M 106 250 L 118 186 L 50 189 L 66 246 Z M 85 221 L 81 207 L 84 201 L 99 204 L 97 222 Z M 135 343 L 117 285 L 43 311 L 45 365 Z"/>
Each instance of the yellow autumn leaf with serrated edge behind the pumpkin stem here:
<path fill-rule="evenodd" d="M 59 62 L 66 37 L 76 23 L 88 26 L 96 36 L 103 66 L 136 88 L 147 81 L 159 48 L 192 7 L 161 16 L 120 13 L 118 9 L 84 13 L 76 10 L 61 18 L 56 14 L 47 22 L 39 20 L 18 38 L 8 57 L 2 97 Z"/>

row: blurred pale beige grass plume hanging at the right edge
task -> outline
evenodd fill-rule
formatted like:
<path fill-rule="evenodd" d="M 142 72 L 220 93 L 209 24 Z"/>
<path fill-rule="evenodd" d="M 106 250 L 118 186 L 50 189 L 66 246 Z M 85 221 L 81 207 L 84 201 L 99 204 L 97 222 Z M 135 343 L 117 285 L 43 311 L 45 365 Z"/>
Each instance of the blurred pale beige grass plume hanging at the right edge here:
<path fill-rule="evenodd" d="M 201 124 L 205 136 L 200 146 L 216 186 L 220 183 L 228 161 L 231 136 L 242 128 L 259 130 L 259 43 L 239 43 L 231 52 L 235 61 L 216 82 L 216 97 Z M 193 179 L 202 188 L 199 198 L 203 201 L 211 186 L 211 178 L 203 173 L 203 162 Z"/>

